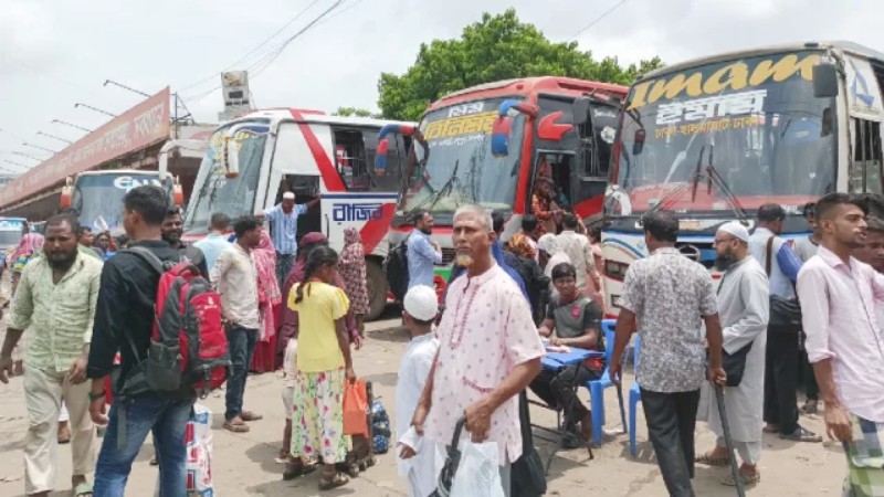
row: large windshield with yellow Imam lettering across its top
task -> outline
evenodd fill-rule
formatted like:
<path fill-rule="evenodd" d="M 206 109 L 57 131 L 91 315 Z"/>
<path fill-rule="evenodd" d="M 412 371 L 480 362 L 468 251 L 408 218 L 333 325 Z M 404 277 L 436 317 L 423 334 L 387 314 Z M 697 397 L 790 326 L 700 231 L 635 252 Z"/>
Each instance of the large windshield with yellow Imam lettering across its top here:
<path fill-rule="evenodd" d="M 789 210 L 835 188 L 834 98 L 813 96 L 819 52 L 692 67 L 635 84 L 618 134 L 611 215 Z"/>

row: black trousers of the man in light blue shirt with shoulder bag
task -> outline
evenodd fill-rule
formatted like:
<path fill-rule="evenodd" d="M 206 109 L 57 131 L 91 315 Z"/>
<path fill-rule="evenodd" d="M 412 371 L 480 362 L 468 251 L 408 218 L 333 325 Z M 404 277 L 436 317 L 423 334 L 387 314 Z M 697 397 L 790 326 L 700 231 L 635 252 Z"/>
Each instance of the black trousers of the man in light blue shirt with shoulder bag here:
<path fill-rule="evenodd" d="M 788 435 L 798 429 L 798 334 L 767 330 L 765 422 Z"/>

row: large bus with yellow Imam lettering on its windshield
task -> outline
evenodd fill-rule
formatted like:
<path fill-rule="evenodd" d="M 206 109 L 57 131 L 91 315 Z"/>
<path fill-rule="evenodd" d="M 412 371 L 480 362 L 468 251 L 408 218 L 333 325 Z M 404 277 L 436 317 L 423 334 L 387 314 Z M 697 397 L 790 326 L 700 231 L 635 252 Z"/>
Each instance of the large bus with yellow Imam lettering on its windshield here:
<path fill-rule="evenodd" d="M 803 207 L 834 191 L 882 192 L 884 54 L 849 42 L 803 43 L 675 64 L 630 88 L 604 201 L 603 277 L 618 313 L 630 263 L 648 254 L 641 216 L 680 220 L 677 248 L 714 269 L 715 232 L 759 207 L 807 236 Z"/>

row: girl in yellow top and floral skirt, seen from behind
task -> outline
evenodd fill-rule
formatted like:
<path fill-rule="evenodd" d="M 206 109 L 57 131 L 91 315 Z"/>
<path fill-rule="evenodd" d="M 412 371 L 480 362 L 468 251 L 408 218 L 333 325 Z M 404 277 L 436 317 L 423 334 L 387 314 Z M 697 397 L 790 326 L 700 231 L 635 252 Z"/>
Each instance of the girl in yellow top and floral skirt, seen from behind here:
<path fill-rule="evenodd" d="M 306 473 L 304 457 L 322 457 L 319 489 L 328 490 L 349 480 L 335 463 L 347 457 L 344 436 L 345 381 L 356 381 L 350 339 L 344 325 L 349 300 L 334 286 L 338 255 L 317 246 L 307 256 L 304 282 L 292 288 L 288 307 L 298 314 L 297 373 L 292 402 L 292 456 L 286 473 Z"/>

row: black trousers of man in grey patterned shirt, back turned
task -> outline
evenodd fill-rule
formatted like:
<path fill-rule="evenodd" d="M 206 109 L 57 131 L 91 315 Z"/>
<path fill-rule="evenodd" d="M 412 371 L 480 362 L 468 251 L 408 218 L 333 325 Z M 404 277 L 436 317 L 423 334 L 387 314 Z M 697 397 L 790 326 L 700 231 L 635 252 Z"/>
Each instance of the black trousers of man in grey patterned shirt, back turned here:
<path fill-rule="evenodd" d="M 642 389 L 644 420 L 666 490 L 673 497 L 693 497 L 694 427 L 699 390 L 661 393 Z"/>

